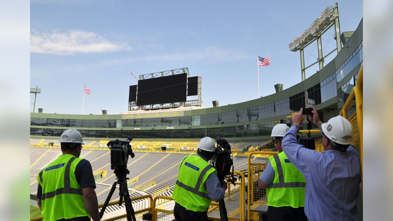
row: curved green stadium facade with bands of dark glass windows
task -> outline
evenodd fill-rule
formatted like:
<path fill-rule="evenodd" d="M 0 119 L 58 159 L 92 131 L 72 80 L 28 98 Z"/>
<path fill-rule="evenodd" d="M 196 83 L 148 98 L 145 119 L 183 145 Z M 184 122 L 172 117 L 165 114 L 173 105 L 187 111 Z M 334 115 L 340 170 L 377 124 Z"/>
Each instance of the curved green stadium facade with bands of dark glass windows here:
<path fill-rule="evenodd" d="M 59 138 L 68 127 L 84 139 L 199 140 L 220 135 L 228 141 L 268 140 L 277 123 L 292 123 L 301 107 L 314 106 L 321 120 L 337 116 L 354 87 L 363 61 L 363 20 L 336 57 L 305 81 L 275 94 L 207 109 L 146 114 L 73 115 L 31 113 L 30 135 Z M 305 128 L 305 125 L 303 125 Z"/>

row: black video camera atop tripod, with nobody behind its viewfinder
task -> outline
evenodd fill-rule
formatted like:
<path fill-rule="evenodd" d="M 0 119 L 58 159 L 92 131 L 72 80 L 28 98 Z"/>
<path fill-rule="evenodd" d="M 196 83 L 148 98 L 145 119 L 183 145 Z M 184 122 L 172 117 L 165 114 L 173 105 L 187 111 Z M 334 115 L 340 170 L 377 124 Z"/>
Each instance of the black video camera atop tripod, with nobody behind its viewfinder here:
<path fill-rule="evenodd" d="M 132 153 L 130 142 L 132 136 L 129 136 L 127 140 L 111 140 L 107 146 L 110 149 L 110 169 L 125 169 L 127 168 L 128 157 L 135 157 Z"/>

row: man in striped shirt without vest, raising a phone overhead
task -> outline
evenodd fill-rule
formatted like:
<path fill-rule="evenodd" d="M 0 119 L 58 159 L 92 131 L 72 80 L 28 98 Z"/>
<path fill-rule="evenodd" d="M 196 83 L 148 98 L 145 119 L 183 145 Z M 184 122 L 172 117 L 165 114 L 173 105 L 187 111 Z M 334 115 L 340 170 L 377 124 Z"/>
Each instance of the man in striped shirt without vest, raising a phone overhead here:
<path fill-rule="evenodd" d="M 296 141 L 303 109 L 292 118 L 283 138 L 283 151 L 307 181 L 305 214 L 310 221 L 356 221 L 360 193 L 359 152 L 351 142 L 352 124 L 342 116 L 321 122 L 314 107 L 309 119 L 320 127 L 324 152 L 304 148 Z"/>

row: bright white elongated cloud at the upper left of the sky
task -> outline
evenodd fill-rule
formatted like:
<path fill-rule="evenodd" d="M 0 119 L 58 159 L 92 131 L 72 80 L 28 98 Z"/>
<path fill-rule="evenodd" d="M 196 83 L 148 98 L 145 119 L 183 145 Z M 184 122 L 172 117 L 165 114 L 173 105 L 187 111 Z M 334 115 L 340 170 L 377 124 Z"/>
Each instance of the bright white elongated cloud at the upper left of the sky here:
<path fill-rule="evenodd" d="M 70 30 L 40 33 L 33 31 L 30 35 L 30 52 L 56 55 L 74 53 L 105 53 L 130 50 L 124 43 L 110 42 L 94 32 Z"/>

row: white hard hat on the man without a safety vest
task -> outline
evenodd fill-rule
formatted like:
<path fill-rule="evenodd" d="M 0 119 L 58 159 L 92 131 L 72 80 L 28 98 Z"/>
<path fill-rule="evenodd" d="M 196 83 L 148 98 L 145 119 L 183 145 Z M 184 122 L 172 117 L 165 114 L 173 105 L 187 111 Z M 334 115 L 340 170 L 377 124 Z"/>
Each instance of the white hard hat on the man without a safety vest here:
<path fill-rule="evenodd" d="M 338 144 L 351 144 L 353 140 L 352 124 L 342 116 L 331 118 L 321 127 L 325 136 Z"/>

